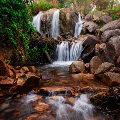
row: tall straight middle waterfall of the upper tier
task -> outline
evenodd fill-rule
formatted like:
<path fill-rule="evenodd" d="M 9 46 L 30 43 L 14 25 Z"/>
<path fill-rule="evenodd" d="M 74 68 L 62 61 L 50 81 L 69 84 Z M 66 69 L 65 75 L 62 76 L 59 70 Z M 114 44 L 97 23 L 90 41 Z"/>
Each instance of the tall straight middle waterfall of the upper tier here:
<path fill-rule="evenodd" d="M 56 38 L 59 35 L 59 10 L 55 11 L 52 19 L 52 38 Z"/>

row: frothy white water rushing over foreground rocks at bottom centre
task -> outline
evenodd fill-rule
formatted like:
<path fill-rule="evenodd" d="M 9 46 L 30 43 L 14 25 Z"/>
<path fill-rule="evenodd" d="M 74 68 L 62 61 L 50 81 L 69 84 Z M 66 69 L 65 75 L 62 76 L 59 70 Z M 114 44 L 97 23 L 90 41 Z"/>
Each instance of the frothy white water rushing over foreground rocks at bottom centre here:
<path fill-rule="evenodd" d="M 93 120 L 94 106 L 86 94 L 76 99 L 74 105 L 67 104 L 62 96 L 56 99 L 48 97 L 47 100 L 57 111 L 56 120 Z"/>

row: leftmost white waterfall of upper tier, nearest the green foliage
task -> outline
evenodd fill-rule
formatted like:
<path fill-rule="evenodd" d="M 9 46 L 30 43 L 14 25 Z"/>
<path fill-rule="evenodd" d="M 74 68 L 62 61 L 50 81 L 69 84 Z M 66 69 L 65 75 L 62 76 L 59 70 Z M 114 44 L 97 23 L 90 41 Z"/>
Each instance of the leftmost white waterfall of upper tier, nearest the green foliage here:
<path fill-rule="evenodd" d="M 41 16 L 42 16 L 42 11 L 40 11 L 36 16 L 33 17 L 33 22 L 32 25 L 36 28 L 36 30 L 41 33 L 40 27 L 41 27 Z"/>

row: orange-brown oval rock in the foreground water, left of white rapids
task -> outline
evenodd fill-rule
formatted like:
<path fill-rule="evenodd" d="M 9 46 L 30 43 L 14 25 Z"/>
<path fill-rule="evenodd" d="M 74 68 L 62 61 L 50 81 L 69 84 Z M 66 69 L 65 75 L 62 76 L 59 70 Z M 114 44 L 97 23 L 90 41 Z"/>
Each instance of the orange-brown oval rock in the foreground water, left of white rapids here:
<path fill-rule="evenodd" d="M 49 108 L 49 105 L 45 104 L 43 102 L 38 102 L 38 104 L 36 104 L 35 107 L 34 107 L 34 109 L 38 112 L 45 111 L 48 108 Z"/>

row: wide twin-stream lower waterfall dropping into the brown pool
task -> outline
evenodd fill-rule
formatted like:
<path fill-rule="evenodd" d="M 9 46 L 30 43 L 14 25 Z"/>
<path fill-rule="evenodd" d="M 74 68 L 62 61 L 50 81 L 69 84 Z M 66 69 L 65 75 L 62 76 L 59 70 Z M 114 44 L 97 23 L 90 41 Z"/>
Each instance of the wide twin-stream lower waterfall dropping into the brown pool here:
<path fill-rule="evenodd" d="M 81 52 L 83 50 L 82 41 L 72 42 L 72 45 L 69 46 L 67 41 L 57 45 L 56 55 L 57 61 L 75 61 L 80 58 Z"/>

